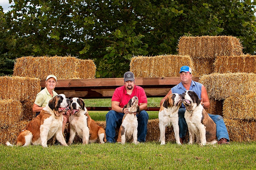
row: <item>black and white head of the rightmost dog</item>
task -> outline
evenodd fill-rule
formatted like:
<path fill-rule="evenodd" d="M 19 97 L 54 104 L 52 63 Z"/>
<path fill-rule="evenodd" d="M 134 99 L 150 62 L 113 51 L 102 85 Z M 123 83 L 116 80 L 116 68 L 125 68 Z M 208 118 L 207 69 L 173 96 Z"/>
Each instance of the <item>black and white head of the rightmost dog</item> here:
<path fill-rule="evenodd" d="M 194 110 L 196 106 L 201 103 L 201 100 L 197 96 L 196 92 L 187 90 L 182 93 L 182 103 L 187 110 Z"/>

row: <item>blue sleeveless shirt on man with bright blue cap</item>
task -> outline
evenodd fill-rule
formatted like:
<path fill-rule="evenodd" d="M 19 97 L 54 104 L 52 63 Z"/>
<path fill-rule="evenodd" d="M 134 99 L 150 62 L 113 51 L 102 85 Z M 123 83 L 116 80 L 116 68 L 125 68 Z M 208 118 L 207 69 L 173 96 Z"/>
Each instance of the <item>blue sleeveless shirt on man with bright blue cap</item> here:
<path fill-rule="evenodd" d="M 172 93 L 178 93 L 178 94 L 182 94 L 186 91 L 187 89 L 183 86 L 183 84 L 180 82 L 179 84 L 177 84 L 176 86 L 174 86 L 172 88 Z M 191 82 L 191 85 L 189 87 L 189 90 L 192 90 L 194 92 L 196 92 L 196 94 L 198 95 L 199 99 L 201 100 L 201 92 L 202 92 L 202 84 L 196 81 Z M 181 108 L 185 108 L 185 106 L 182 105 L 180 106 Z"/>

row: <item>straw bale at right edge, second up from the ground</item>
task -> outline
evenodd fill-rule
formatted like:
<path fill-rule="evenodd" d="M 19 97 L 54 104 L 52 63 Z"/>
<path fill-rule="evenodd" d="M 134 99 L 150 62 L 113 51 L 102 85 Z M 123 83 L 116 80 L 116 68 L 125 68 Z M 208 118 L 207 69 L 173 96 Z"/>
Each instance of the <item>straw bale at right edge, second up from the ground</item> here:
<path fill-rule="evenodd" d="M 223 117 L 235 120 L 256 120 L 256 93 L 232 96 L 224 100 Z"/>

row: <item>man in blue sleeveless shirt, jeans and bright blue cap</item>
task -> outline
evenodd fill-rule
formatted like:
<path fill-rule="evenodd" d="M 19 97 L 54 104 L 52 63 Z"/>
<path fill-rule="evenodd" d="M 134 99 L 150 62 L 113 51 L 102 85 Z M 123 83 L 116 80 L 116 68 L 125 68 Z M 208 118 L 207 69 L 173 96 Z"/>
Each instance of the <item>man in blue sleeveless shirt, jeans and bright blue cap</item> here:
<path fill-rule="evenodd" d="M 206 89 L 203 84 L 193 81 L 192 80 L 192 71 L 191 68 L 188 66 L 182 66 L 180 68 L 180 80 L 181 82 L 174 86 L 169 93 L 161 100 L 160 106 L 164 103 L 164 100 L 172 93 L 178 93 L 182 94 L 186 90 L 192 90 L 196 92 L 198 97 L 201 99 L 201 104 L 203 105 L 204 109 L 209 109 L 210 102 L 209 98 L 207 96 Z M 185 135 L 187 133 L 187 123 L 184 118 L 185 114 L 185 106 L 182 105 L 180 106 L 179 109 L 179 134 L 180 134 L 180 143 L 183 144 L 185 141 Z M 212 120 L 216 124 L 216 135 L 218 138 L 218 144 L 229 144 L 229 137 L 228 137 L 228 131 L 227 127 L 223 121 L 223 118 L 220 115 L 211 115 L 209 116 L 212 118 Z"/>

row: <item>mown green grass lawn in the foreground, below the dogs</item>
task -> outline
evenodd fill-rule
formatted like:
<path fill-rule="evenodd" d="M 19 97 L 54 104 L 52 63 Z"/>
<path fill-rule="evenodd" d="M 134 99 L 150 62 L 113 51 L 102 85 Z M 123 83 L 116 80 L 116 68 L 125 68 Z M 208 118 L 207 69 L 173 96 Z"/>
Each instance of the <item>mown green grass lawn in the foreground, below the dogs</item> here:
<path fill-rule="evenodd" d="M 10 169 L 256 169 L 256 143 L 177 145 L 167 142 L 10 147 L 0 145 L 1 170 Z"/>

